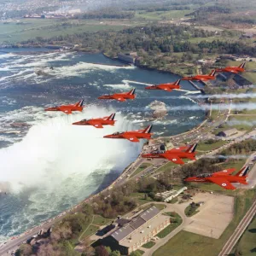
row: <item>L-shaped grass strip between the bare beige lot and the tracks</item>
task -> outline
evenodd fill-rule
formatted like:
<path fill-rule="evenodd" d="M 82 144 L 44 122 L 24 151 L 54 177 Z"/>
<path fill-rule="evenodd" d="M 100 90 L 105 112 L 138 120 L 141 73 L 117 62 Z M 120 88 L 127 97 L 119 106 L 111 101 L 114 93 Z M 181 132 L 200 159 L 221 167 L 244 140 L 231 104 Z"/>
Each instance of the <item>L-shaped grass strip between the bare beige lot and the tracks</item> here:
<path fill-rule="evenodd" d="M 199 236 L 187 231 L 181 231 L 176 236 L 172 237 L 163 247 L 160 247 L 154 252 L 154 256 L 216 256 L 224 246 L 224 243 L 230 238 L 237 224 L 245 215 L 248 208 L 251 206 L 256 189 L 240 191 L 236 196 L 235 216 L 231 223 L 224 230 L 219 239 L 213 239 L 207 236 Z"/>

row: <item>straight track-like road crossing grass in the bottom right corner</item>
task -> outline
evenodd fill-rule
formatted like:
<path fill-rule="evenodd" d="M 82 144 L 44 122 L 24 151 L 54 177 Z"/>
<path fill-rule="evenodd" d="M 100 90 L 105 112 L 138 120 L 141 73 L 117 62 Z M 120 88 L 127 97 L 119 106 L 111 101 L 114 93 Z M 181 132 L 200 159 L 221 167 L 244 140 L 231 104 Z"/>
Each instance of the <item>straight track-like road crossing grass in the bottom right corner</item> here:
<path fill-rule="evenodd" d="M 236 227 L 235 232 L 230 239 L 224 245 L 222 251 L 218 254 L 218 256 L 229 255 L 231 250 L 236 246 L 236 242 L 239 240 L 243 232 L 247 229 L 247 226 L 253 219 L 253 216 L 256 213 L 256 200 L 253 202 L 252 207 L 249 209 L 244 218 L 241 219 L 240 224 Z"/>

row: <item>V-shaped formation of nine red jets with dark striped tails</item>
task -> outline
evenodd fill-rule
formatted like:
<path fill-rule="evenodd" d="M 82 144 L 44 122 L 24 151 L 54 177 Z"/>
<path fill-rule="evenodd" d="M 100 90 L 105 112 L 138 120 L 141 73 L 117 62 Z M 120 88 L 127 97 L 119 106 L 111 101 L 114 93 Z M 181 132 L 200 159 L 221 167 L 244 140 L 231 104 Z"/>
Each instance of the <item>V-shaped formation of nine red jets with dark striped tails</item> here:
<path fill-rule="evenodd" d="M 181 80 L 189 80 L 189 81 L 208 81 L 215 79 L 215 74 L 218 72 L 230 72 L 230 73 L 240 73 L 245 71 L 245 62 L 242 63 L 239 67 L 224 67 L 212 70 L 212 72 L 208 75 L 195 75 L 190 77 L 184 77 L 183 79 L 178 79 L 174 83 L 167 84 L 154 84 L 145 87 L 146 90 L 180 90 L 180 82 Z M 136 97 L 135 89 L 132 89 L 128 92 L 123 93 L 114 93 L 112 95 L 103 95 L 99 96 L 100 100 L 116 100 L 118 102 L 125 102 L 126 100 L 134 100 Z M 72 105 L 62 105 L 55 106 L 52 108 L 45 108 L 45 111 L 61 111 L 63 113 L 73 113 L 73 111 L 83 111 L 83 103 L 84 100 L 81 100 Z M 96 128 L 103 128 L 103 125 L 114 125 L 116 120 L 114 120 L 115 113 L 112 113 L 110 116 L 96 119 L 83 119 L 81 121 L 73 123 L 73 125 L 92 125 Z M 115 139 L 126 139 L 132 143 L 138 143 L 140 139 L 149 140 L 153 133 L 151 133 L 152 125 L 148 125 L 143 130 L 137 131 L 122 131 L 122 132 L 114 132 L 113 134 L 106 135 L 104 138 L 115 138 Z M 163 158 L 166 160 L 170 160 L 175 164 L 183 165 L 183 159 L 196 160 L 195 159 L 195 148 L 197 147 L 197 143 L 188 146 L 188 147 L 180 147 L 180 148 L 172 148 L 169 150 L 156 150 L 152 151 L 150 154 L 142 154 L 143 158 Z M 216 183 L 224 189 L 236 189 L 231 183 L 242 183 L 247 184 L 246 177 L 248 172 L 248 166 L 244 166 L 240 172 L 238 172 L 235 176 L 231 176 L 230 174 L 235 172 L 235 169 L 228 169 L 221 172 L 215 172 L 212 174 L 201 174 L 196 177 L 188 177 L 185 179 L 186 182 L 201 182 L 201 183 Z"/>

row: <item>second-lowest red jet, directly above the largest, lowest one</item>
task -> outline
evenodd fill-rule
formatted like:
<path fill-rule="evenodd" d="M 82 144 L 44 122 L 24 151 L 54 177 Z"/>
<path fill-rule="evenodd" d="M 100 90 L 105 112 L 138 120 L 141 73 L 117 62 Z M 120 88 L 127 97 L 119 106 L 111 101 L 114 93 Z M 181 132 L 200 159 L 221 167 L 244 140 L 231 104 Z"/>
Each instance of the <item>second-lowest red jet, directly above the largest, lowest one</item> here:
<path fill-rule="evenodd" d="M 196 147 L 197 147 L 197 143 L 189 147 L 172 148 L 166 151 L 156 150 L 151 152 L 150 154 L 143 154 L 142 157 L 143 158 L 166 158 L 167 160 L 170 160 L 175 164 L 183 165 L 184 162 L 182 159 L 184 158 L 195 160 Z"/>

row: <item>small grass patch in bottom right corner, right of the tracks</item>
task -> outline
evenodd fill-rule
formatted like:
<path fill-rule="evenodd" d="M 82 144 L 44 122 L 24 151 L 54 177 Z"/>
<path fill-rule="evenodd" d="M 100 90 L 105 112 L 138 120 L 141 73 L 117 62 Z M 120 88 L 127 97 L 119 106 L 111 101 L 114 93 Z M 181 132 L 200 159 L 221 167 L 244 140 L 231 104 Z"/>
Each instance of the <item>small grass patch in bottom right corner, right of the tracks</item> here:
<path fill-rule="evenodd" d="M 236 245 L 236 251 L 240 252 L 240 255 L 256 255 L 256 216 L 241 236 Z"/>

